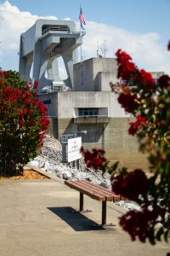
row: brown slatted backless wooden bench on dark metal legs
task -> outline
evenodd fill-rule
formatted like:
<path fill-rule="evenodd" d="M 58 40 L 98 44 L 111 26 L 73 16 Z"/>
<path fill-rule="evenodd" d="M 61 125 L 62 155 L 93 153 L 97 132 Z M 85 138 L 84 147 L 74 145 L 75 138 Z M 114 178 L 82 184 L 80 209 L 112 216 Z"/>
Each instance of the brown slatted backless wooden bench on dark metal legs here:
<path fill-rule="evenodd" d="M 122 200 L 120 195 L 116 195 L 111 190 L 88 181 L 65 181 L 65 185 L 80 192 L 80 212 L 83 211 L 83 195 L 102 201 L 102 225 L 106 224 L 106 202 Z"/>

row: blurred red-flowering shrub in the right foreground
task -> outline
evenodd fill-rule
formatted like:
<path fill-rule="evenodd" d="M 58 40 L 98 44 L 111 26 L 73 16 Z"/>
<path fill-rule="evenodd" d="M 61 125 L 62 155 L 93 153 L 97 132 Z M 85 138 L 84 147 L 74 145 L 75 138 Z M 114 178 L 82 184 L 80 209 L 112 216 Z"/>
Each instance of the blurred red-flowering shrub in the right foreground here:
<path fill-rule="evenodd" d="M 170 42 L 167 49 L 170 50 Z M 163 75 L 155 84 L 150 73 L 139 70 L 126 52 L 118 49 L 116 57 L 117 77 L 126 80 L 126 84 L 111 83 L 111 89 L 122 108 L 135 118 L 129 123 L 128 133 L 138 137 L 140 150 L 148 154 L 152 176 L 146 177 L 140 169 L 128 172 L 118 162 L 110 166 L 104 155 L 98 167 L 111 174 L 116 194 L 140 205 L 139 211 L 129 211 L 120 218 L 123 230 L 132 240 L 149 238 L 155 244 L 161 237 L 167 241 L 170 236 L 170 77 Z M 84 149 L 82 153 L 95 168 L 94 153 Z"/>

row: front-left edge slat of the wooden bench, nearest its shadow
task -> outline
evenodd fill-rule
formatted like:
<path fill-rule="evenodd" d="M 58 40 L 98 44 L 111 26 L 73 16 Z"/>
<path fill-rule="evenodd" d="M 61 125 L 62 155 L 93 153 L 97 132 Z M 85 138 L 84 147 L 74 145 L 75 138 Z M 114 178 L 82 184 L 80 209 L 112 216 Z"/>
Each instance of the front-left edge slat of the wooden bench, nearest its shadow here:
<path fill-rule="evenodd" d="M 82 192 L 85 195 L 90 196 L 91 198 L 98 200 L 98 201 L 105 201 L 105 196 L 102 196 L 90 189 L 83 189 L 81 184 L 75 184 L 75 182 L 65 181 L 65 184 L 69 186 L 71 189 L 76 189 L 79 192 Z"/>

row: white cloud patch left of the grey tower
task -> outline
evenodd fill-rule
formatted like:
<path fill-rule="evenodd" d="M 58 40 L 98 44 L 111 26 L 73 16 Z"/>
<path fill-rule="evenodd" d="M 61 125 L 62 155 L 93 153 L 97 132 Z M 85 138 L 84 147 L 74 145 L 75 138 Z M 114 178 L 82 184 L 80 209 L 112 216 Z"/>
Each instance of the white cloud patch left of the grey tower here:
<path fill-rule="evenodd" d="M 29 12 L 21 12 L 8 1 L 0 4 L 0 66 L 3 69 L 18 69 L 20 34 L 32 26 L 37 19 L 56 20 L 57 17 L 40 17 Z"/>

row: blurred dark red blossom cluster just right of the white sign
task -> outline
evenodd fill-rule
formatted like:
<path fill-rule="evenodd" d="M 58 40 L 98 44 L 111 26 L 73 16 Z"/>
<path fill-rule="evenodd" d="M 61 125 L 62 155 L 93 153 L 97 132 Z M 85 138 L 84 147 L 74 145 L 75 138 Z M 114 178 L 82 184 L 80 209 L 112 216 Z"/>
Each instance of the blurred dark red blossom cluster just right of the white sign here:
<path fill-rule="evenodd" d="M 82 147 L 81 152 L 88 167 L 93 167 L 95 170 L 100 170 L 102 168 L 102 165 L 105 162 L 105 150 L 93 148 L 90 152 L 89 150 L 84 150 Z"/>

